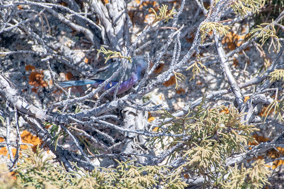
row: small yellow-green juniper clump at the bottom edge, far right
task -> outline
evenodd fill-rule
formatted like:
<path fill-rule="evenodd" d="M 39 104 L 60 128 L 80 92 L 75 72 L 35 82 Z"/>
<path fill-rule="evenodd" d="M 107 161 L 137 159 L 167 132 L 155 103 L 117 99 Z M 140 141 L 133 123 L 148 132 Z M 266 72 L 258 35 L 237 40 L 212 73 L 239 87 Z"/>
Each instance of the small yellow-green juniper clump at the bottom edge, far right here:
<path fill-rule="evenodd" d="M 264 160 L 256 160 L 248 169 L 243 164 L 238 169 L 235 164 L 235 167 L 229 167 L 229 171 L 227 180 L 221 184 L 222 189 L 257 189 L 270 184 L 267 175 L 271 171 L 267 169 Z"/>

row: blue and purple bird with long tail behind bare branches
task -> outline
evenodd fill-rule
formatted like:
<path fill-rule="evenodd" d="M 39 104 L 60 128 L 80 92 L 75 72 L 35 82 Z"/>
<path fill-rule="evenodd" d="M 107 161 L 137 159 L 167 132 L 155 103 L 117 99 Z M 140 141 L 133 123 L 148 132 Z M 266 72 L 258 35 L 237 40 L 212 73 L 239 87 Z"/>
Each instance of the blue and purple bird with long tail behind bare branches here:
<path fill-rule="evenodd" d="M 147 69 L 147 61 L 144 56 L 133 56 L 131 58 L 132 63 L 127 64 L 127 69 L 124 74 L 122 83 L 118 88 L 117 94 L 121 94 L 130 89 L 137 81 L 141 80 Z M 98 87 L 105 80 L 110 78 L 112 74 L 118 69 L 120 61 L 106 65 L 98 69 L 91 77 L 82 79 L 82 80 L 73 80 L 73 81 L 64 81 L 58 83 L 61 87 L 70 87 L 70 86 L 81 86 L 86 84 L 91 84 L 94 87 Z M 115 78 L 112 79 L 105 87 L 102 88 L 103 91 L 110 89 L 112 86 L 118 83 L 120 80 L 122 71 Z M 115 88 L 112 89 L 109 93 L 114 94 Z"/>

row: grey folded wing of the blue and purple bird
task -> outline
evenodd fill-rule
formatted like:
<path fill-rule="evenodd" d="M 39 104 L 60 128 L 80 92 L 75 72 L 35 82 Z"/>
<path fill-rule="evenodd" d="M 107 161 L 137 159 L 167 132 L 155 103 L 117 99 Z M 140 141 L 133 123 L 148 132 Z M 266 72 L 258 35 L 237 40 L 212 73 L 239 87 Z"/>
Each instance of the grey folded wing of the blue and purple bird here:
<path fill-rule="evenodd" d="M 120 61 L 106 65 L 106 66 L 98 69 L 97 73 L 95 73 L 95 75 L 89 77 L 88 79 L 106 80 L 106 79 L 110 78 L 110 76 L 112 76 L 112 74 L 118 69 L 119 64 L 120 64 Z M 132 65 L 133 65 L 133 62 L 132 63 L 128 62 L 123 81 L 128 80 L 131 77 L 131 73 L 132 73 L 131 70 L 132 70 L 132 67 L 133 67 Z M 120 72 L 120 74 L 118 74 L 114 79 L 112 79 L 112 81 L 119 81 L 120 77 L 121 77 L 121 73 L 122 72 Z"/>

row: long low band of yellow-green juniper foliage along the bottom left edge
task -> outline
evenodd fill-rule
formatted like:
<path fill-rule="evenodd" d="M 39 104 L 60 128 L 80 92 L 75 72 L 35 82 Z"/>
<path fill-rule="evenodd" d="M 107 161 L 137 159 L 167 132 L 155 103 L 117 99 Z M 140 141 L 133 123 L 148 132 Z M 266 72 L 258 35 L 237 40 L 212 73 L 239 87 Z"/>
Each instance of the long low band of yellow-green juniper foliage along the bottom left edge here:
<path fill-rule="evenodd" d="M 133 161 L 117 162 L 114 169 L 98 167 L 92 172 L 84 171 L 76 167 L 78 172 L 67 172 L 51 158 L 43 157 L 43 150 L 37 148 L 34 153 L 31 148 L 24 150 L 23 158 L 18 168 L 14 170 L 17 180 L 12 180 L 9 173 L 5 173 L 0 167 L 0 188 L 68 188 L 68 189 L 148 189 L 160 186 L 164 188 L 183 189 L 185 182 L 177 176 L 169 175 L 169 166 L 134 166 Z M 81 177 L 78 177 L 81 175 Z"/>

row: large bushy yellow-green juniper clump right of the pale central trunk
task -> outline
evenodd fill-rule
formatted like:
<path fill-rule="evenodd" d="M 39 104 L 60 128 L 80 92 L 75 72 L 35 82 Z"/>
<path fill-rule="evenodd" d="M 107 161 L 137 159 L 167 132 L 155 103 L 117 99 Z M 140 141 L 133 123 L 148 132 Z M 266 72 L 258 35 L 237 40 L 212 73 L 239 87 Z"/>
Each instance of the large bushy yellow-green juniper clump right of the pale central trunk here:
<path fill-rule="evenodd" d="M 161 136 L 151 139 L 150 142 L 161 143 L 162 148 L 165 148 L 166 140 L 171 141 L 168 148 L 180 142 L 184 143 L 184 146 L 176 149 L 170 157 L 182 155 L 185 163 L 179 170 L 186 169 L 208 178 L 210 182 L 216 182 L 217 171 L 222 175 L 227 174 L 224 167 L 226 158 L 233 152 L 245 152 L 244 146 L 249 141 L 256 142 L 250 133 L 259 130 L 252 125 L 243 124 L 240 121 L 243 115 L 237 110 L 231 109 L 229 114 L 220 113 L 220 110 L 225 108 L 222 105 L 212 110 L 210 107 L 204 109 L 201 103 L 197 111 L 189 111 L 183 118 L 174 117 L 164 110 L 165 114 L 161 119 L 172 117 L 174 121 L 163 123 L 157 131 L 163 132 L 162 126 L 167 125 L 165 133 L 183 133 L 191 137 L 188 141 L 182 141 L 183 137 Z"/>

